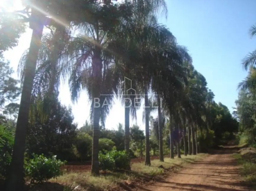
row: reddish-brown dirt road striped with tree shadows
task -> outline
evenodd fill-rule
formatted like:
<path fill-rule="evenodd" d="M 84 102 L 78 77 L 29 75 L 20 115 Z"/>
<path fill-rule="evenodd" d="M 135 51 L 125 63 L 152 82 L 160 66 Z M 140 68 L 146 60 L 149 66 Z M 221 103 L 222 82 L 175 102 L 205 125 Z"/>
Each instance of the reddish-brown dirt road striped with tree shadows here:
<path fill-rule="evenodd" d="M 239 167 L 232 158 L 234 150 L 226 148 L 200 162 L 184 167 L 166 180 L 141 188 L 146 191 L 245 191 Z"/>

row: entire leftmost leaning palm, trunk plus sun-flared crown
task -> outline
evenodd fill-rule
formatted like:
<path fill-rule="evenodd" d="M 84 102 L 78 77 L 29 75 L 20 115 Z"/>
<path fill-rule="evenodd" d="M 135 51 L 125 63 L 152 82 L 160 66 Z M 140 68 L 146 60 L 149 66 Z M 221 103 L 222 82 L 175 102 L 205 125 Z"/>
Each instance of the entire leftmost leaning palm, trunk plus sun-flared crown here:
<path fill-rule="evenodd" d="M 38 2 L 37 2 L 38 3 Z M 49 19 L 45 16 L 45 13 L 50 9 L 60 10 L 60 4 L 55 4 L 55 6 L 50 5 L 49 1 L 45 1 L 39 4 L 32 4 L 31 6 L 26 6 L 22 11 L 16 11 L 22 19 L 21 22 L 29 22 L 30 28 L 33 30 L 32 38 L 30 42 L 30 49 L 27 55 L 27 60 L 25 64 L 24 76 L 23 76 L 23 88 L 22 96 L 20 101 L 19 114 L 17 118 L 17 127 L 15 131 L 15 140 L 13 147 L 13 155 L 11 162 L 11 169 L 9 172 L 9 178 L 7 180 L 6 190 L 17 190 L 23 185 L 23 158 L 25 151 L 25 137 L 26 137 L 26 127 L 28 124 L 29 109 L 30 109 L 30 98 L 33 86 L 33 80 L 35 77 L 35 69 L 37 62 L 37 55 L 41 46 L 41 38 L 43 35 L 44 25 L 53 25 L 53 19 Z M 29 12 L 31 8 L 31 12 Z M 60 13 L 61 11 L 59 11 Z M 30 16 L 25 17 L 24 14 Z M 63 13 L 63 12 L 62 12 Z"/>

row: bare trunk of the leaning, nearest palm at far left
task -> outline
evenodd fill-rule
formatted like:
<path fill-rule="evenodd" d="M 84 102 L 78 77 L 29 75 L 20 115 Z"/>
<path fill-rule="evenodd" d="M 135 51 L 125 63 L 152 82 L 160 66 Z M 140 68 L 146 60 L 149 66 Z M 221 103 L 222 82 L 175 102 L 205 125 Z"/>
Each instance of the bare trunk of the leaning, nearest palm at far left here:
<path fill-rule="evenodd" d="M 28 126 L 28 115 L 30 108 L 30 98 L 35 78 L 35 69 L 38 52 L 41 46 L 43 35 L 43 19 L 40 14 L 35 16 L 38 22 L 34 23 L 30 49 L 25 68 L 25 77 L 22 87 L 19 113 L 15 130 L 15 138 L 12 153 L 12 162 L 9 171 L 9 177 L 6 184 L 7 191 L 22 190 L 23 188 L 23 163 L 25 152 L 26 129 Z M 32 25 L 32 24 L 31 24 Z"/>

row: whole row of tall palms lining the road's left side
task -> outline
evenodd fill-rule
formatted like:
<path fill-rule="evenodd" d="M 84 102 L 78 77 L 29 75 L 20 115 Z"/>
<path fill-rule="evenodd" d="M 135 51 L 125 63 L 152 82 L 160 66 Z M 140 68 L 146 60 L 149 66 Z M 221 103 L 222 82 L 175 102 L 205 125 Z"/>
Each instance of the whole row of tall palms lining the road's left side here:
<path fill-rule="evenodd" d="M 64 23 L 72 25 L 72 28 L 64 25 L 63 21 L 59 21 L 58 18 L 64 13 L 57 11 L 57 16 L 50 19 L 54 24 L 48 33 L 43 33 L 45 15 L 42 9 L 50 13 L 53 13 L 53 10 L 45 6 L 46 3 L 38 4 L 37 9 L 34 4 L 32 6 L 32 14 L 37 13 L 33 16 L 44 19 L 30 22 L 30 24 L 33 23 L 30 49 L 24 53 L 19 64 L 23 89 L 8 191 L 16 190 L 17 186 L 22 185 L 26 126 L 29 116 L 32 115 L 30 111 L 36 105 L 41 107 L 42 112 L 47 116 L 51 109 L 47 104 L 48 100 L 52 98 L 53 92 L 58 91 L 62 78 L 69 81 L 73 101 L 79 98 L 79 93 L 83 90 L 87 91 L 91 100 L 92 173 L 95 175 L 99 174 L 100 123 L 104 126 L 115 95 L 124 95 L 121 96 L 123 105 L 131 105 L 131 107 L 125 107 L 125 150 L 129 151 L 129 117 L 131 115 L 136 118 L 134 98 L 140 97 L 125 95 L 124 77 L 132 79 L 132 84 L 125 85 L 132 85 L 136 92 L 139 92 L 137 94 L 144 95 L 142 97 L 146 113 L 145 165 L 150 165 L 149 113 L 152 108 L 149 105 L 151 101 L 156 101 L 158 104 L 161 161 L 164 160 L 162 118 L 167 116 L 170 121 L 171 158 L 174 157 L 175 130 L 183 129 L 185 134 L 187 129 L 189 153 L 196 154 L 197 130 L 207 129 L 206 108 L 209 102 L 207 102 L 206 80 L 194 70 L 192 58 L 186 48 L 178 45 L 166 26 L 157 22 L 156 14 L 159 11 L 167 13 L 164 0 L 131 0 L 116 4 L 111 4 L 110 1 L 93 1 L 86 7 L 81 7 L 79 0 L 74 2 L 76 2 L 75 13 L 78 14 L 74 16 L 68 11 L 68 16 L 63 16 Z M 66 2 L 56 6 L 64 7 L 63 10 L 67 10 L 68 7 Z M 109 15 L 106 14 L 107 10 L 111 13 L 115 10 L 115 14 L 107 17 Z M 79 18 L 79 11 L 81 18 Z M 149 96 L 151 93 L 156 96 Z M 94 107 L 94 98 L 99 98 L 101 105 L 104 100 L 109 104 Z M 180 157 L 180 154 L 178 156 Z"/>

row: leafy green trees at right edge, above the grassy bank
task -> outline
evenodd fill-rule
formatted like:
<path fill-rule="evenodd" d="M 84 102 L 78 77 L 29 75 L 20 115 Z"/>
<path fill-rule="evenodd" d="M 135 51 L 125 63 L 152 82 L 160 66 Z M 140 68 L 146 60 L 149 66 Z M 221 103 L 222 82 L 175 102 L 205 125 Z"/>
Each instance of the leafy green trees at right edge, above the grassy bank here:
<path fill-rule="evenodd" d="M 250 28 L 250 35 L 255 36 L 256 27 Z M 242 66 L 249 69 L 247 77 L 238 85 L 239 94 L 236 100 L 234 116 L 239 121 L 237 141 L 240 144 L 255 145 L 256 136 L 256 68 L 255 51 L 249 53 L 242 61 Z"/>

